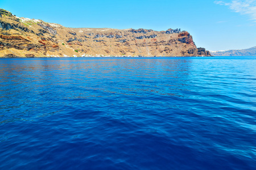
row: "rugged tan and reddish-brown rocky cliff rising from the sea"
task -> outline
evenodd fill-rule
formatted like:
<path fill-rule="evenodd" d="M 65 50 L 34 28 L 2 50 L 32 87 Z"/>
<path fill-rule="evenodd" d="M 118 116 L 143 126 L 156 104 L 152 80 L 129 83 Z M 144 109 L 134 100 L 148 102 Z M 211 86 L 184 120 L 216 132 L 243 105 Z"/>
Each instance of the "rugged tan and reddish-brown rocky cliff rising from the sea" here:
<path fill-rule="evenodd" d="M 211 56 L 187 31 L 66 28 L 0 9 L 0 57 Z"/>

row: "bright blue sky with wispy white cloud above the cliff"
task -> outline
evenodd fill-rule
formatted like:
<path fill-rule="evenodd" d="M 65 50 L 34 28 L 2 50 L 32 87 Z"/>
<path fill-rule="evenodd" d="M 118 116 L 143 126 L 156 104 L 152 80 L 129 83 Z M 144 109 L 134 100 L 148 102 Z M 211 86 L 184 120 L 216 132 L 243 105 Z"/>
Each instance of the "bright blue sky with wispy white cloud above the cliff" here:
<path fill-rule="evenodd" d="M 0 8 L 73 28 L 181 28 L 207 50 L 256 46 L 256 0 L 0 0 Z"/>

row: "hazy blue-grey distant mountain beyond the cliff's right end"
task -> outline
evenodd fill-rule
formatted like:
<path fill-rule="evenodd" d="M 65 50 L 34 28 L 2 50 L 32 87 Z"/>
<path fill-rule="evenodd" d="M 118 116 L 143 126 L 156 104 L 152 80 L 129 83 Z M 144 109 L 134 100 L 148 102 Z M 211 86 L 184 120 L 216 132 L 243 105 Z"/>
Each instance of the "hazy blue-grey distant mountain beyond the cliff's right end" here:
<path fill-rule="evenodd" d="M 210 52 L 213 56 L 256 56 L 256 46 L 249 49 Z"/>

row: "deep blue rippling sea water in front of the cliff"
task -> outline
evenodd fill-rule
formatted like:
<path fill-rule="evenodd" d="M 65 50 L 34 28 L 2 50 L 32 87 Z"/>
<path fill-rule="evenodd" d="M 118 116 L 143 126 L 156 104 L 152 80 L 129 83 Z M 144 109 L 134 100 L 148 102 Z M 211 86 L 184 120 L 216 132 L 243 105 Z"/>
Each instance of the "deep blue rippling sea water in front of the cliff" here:
<path fill-rule="evenodd" d="M 0 59 L 0 169 L 255 168 L 256 57 Z"/>

